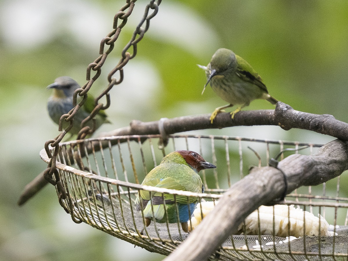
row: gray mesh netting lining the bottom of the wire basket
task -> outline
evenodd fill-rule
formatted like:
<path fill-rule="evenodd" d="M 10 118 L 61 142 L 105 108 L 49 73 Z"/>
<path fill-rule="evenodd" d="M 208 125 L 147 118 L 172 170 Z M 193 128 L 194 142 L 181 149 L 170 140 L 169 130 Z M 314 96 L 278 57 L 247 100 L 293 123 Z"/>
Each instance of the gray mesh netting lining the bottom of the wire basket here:
<path fill-rule="evenodd" d="M 87 201 L 86 199 L 84 204 L 88 205 Z M 134 213 L 134 208 L 132 209 L 129 204 L 120 204 L 118 199 L 113 198 L 112 207 L 110 201 L 102 200 L 100 197 L 96 198 L 96 202 L 97 208 L 95 208 L 95 205 L 90 204 L 93 209 L 92 212 L 90 208 L 85 208 L 82 202 L 76 208 L 76 211 L 82 211 L 84 213 L 84 216 L 88 220 L 86 223 L 97 228 L 102 228 L 102 230 L 109 230 L 111 228 L 109 234 L 117 237 L 119 237 L 118 231 L 127 228 L 127 233 L 124 235 L 127 238 L 124 239 L 127 241 L 128 235 L 136 237 L 136 230 L 141 230 L 144 226 L 142 215 L 140 213 Z M 85 212 L 82 209 L 85 209 Z M 149 226 L 147 232 L 150 241 L 146 240 L 145 246 L 143 247 L 161 254 L 169 254 L 188 236 L 188 234 L 180 230 L 177 224 L 168 224 L 167 226 L 167 224 L 156 223 L 156 228 L 155 226 Z M 222 244 L 222 250 L 215 254 L 215 258 L 220 260 L 333 260 L 333 256 L 335 256 L 336 260 L 340 260 L 338 257 L 343 253 L 341 256 L 342 260 L 347 260 L 348 226 L 340 226 L 335 232 L 337 233 L 335 237 L 325 236 L 320 237 L 319 240 L 318 236 L 307 236 L 306 238 L 292 240 L 290 243 L 284 242 L 281 244 L 279 242 L 286 241 L 286 238 L 273 237 L 271 235 L 234 235 Z M 269 244 L 272 242 L 276 242 L 277 244 Z M 257 244 L 262 245 L 262 252 L 254 248 Z M 334 252 L 333 245 L 335 246 Z M 299 254 L 301 252 L 306 254 Z M 290 253 L 293 254 L 290 255 Z M 321 258 L 319 258 L 319 254 Z"/>

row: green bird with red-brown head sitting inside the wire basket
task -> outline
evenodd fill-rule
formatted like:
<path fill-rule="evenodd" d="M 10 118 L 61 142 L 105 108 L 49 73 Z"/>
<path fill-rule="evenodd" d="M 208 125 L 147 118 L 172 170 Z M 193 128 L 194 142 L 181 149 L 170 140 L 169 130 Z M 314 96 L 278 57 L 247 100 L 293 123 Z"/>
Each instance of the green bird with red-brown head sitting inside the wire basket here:
<path fill-rule="evenodd" d="M 146 175 L 142 185 L 203 193 L 204 185 L 198 172 L 208 168 L 216 168 L 216 166 L 205 161 L 198 153 L 187 150 L 174 151 L 165 156 L 161 163 Z M 187 222 L 198 200 L 197 197 L 180 195 L 174 198 L 172 194 L 159 192 L 152 192 L 150 199 L 149 191 L 139 190 L 135 206 L 137 211 L 143 212 L 146 227 L 150 225 L 151 220 L 165 223 L 168 219 L 169 223 L 176 223 L 179 216 L 182 230 L 188 233 Z M 145 227 L 141 234 L 144 229 Z"/>

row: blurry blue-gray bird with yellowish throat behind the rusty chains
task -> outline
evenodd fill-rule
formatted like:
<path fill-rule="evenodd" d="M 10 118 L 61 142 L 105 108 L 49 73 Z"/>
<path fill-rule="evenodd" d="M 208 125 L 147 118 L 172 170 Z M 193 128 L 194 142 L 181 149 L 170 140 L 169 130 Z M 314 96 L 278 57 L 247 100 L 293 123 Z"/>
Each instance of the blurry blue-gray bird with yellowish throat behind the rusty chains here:
<path fill-rule="evenodd" d="M 53 84 L 47 86 L 49 89 L 53 89 L 53 94 L 49 97 L 47 102 L 47 110 L 49 117 L 56 123 L 59 124 L 59 119 L 63 114 L 71 111 L 74 106 L 72 104 L 72 96 L 74 91 L 81 88 L 80 85 L 68 76 L 61 76 L 55 79 Z M 95 108 L 94 98 L 88 94 L 87 100 L 84 105 L 78 110 L 74 116 L 74 124 L 69 133 L 77 135 L 81 129 L 81 121 L 84 120 Z M 110 123 L 107 119 L 107 115 L 103 110 L 100 110 L 95 116 L 96 129 L 99 128 L 103 123 Z M 69 122 L 63 124 L 63 128 L 68 127 Z M 92 120 L 87 122 L 87 125 L 92 128 Z M 69 137 L 71 139 L 71 137 Z"/>

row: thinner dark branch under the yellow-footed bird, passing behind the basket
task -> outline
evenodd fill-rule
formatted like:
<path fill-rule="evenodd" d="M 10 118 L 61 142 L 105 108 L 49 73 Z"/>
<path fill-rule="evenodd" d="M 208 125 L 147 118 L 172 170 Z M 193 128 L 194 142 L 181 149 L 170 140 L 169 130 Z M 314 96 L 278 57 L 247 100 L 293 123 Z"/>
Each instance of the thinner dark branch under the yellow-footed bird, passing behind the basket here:
<path fill-rule="evenodd" d="M 328 114 L 318 115 L 296 111 L 291 106 L 282 102 L 277 103 L 275 110 L 240 111 L 235 115 L 233 120 L 228 112 L 217 114 L 213 124 L 210 123 L 209 118 L 210 114 L 202 114 L 166 119 L 162 122 L 163 129 L 166 134 L 174 134 L 189 130 L 221 129 L 232 126 L 275 125 L 285 130 L 291 128 L 312 130 L 348 141 L 347 123 L 336 120 Z M 103 137 L 160 134 L 159 125 L 160 121 L 142 122 L 133 120 L 130 122 L 130 126 L 104 133 Z M 97 142 L 94 145 L 95 150 L 99 148 Z M 104 148 L 107 147 L 108 141 L 105 141 L 102 145 Z M 91 151 L 91 148 L 92 146 L 90 145 L 87 151 Z M 84 153 L 84 151 L 81 153 Z M 84 155 L 81 156 L 83 157 Z M 40 173 L 39 176 L 41 177 L 35 178 L 34 181 L 26 185 L 18 201 L 19 205 L 24 204 L 47 184 L 42 181 L 43 174 Z"/>

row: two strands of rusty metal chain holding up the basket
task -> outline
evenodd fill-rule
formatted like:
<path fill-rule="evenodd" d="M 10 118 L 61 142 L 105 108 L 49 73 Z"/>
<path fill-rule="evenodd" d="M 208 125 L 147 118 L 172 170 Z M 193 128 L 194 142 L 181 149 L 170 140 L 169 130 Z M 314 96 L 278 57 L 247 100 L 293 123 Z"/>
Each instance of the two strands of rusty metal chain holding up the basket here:
<path fill-rule="evenodd" d="M 58 198 L 60 200 L 60 203 L 62 202 L 62 199 L 66 199 L 66 192 L 63 187 L 63 184 L 60 181 L 59 174 L 56 169 L 56 159 L 59 153 L 59 143 L 62 141 L 63 137 L 66 133 L 69 132 L 69 130 L 73 127 L 74 122 L 74 116 L 77 113 L 77 111 L 81 108 L 81 106 L 84 105 L 85 101 L 87 100 L 87 92 L 92 87 L 95 80 L 100 76 L 101 74 L 101 68 L 106 60 L 106 57 L 111 53 L 112 49 L 114 48 L 114 42 L 118 39 L 118 36 L 121 32 L 121 29 L 126 25 L 127 19 L 130 14 L 132 14 L 134 5 L 136 0 L 126 0 L 126 4 L 120 8 L 118 13 L 114 16 L 113 19 L 113 30 L 104 37 L 100 43 L 100 50 L 99 54 L 100 56 L 93 62 L 90 63 L 87 66 L 87 73 L 86 73 L 86 84 L 82 86 L 79 89 L 76 89 L 73 94 L 73 105 L 74 108 L 67 114 L 63 114 L 59 120 L 58 130 L 61 132 L 58 136 L 56 136 L 54 139 L 48 140 L 45 143 L 45 150 L 48 155 L 48 157 L 51 158 L 47 169 L 45 171 L 45 178 L 53 185 L 57 186 L 58 190 Z M 135 31 L 133 32 L 132 38 L 128 42 L 128 44 L 124 47 L 122 50 L 122 57 L 119 61 L 119 63 L 116 65 L 116 67 L 111 70 L 111 72 L 108 75 L 108 81 L 109 85 L 108 87 L 103 90 L 103 92 L 95 98 L 95 108 L 90 113 L 90 115 L 85 118 L 81 122 L 81 130 L 78 133 L 77 139 L 84 139 L 88 134 L 92 134 L 96 129 L 95 119 L 94 116 L 100 111 L 105 110 L 109 108 L 111 100 L 110 100 L 110 94 L 109 91 L 114 85 L 120 84 L 123 80 L 123 67 L 128 63 L 128 61 L 135 57 L 137 53 L 137 43 L 144 37 L 145 32 L 148 31 L 150 26 L 150 19 L 153 18 L 157 12 L 158 12 L 158 6 L 160 5 L 161 0 L 151 0 L 150 3 L 145 7 L 144 15 L 140 21 L 140 23 L 137 25 Z M 128 9 L 128 10 L 127 10 Z M 151 14 L 149 14 L 150 9 L 153 10 Z M 127 11 L 126 11 L 127 10 Z M 119 20 L 122 22 L 119 24 Z M 142 25 L 145 23 L 145 27 L 142 27 Z M 104 52 L 105 46 L 109 46 L 109 48 Z M 128 49 L 130 46 L 133 46 L 133 54 L 130 54 Z M 91 78 L 91 70 L 96 71 L 94 76 Z M 119 79 L 116 77 L 113 77 L 113 75 L 119 71 Z M 77 104 L 77 95 L 83 96 L 82 100 Z M 106 104 L 99 103 L 99 100 L 105 96 L 106 98 Z M 92 120 L 92 128 L 89 126 L 85 126 L 88 121 Z M 69 126 L 66 127 L 63 130 L 63 122 L 68 121 Z M 54 148 L 53 154 L 50 152 L 49 146 Z M 53 180 L 53 175 L 55 177 L 55 180 Z M 63 206 L 63 204 L 61 203 Z M 71 204 L 70 204 L 71 205 Z M 64 207 L 64 206 L 63 206 Z M 64 207 L 65 210 L 66 207 Z"/>

